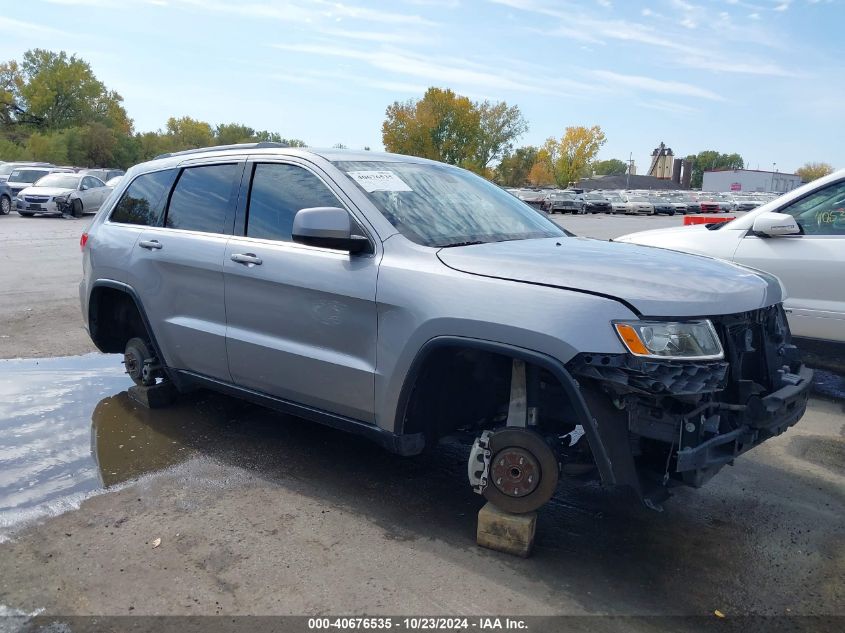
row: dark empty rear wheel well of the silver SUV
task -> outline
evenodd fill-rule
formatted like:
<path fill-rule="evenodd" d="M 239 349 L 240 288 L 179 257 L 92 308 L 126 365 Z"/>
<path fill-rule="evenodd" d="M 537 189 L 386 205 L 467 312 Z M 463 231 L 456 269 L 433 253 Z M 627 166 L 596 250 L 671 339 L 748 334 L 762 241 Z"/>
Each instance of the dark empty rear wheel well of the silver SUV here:
<path fill-rule="evenodd" d="M 150 340 L 135 300 L 115 288 L 95 288 L 88 304 L 88 329 L 101 352 L 123 353 L 129 339 Z"/>

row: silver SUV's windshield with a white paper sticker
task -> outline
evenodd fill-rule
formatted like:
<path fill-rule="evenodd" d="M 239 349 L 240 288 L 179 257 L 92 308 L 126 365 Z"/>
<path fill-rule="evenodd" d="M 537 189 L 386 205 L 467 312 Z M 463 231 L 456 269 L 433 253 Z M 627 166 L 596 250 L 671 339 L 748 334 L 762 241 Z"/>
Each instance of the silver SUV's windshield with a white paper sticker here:
<path fill-rule="evenodd" d="M 496 185 L 456 167 L 380 161 L 335 165 L 417 244 L 444 247 L 566 235 Z"/>

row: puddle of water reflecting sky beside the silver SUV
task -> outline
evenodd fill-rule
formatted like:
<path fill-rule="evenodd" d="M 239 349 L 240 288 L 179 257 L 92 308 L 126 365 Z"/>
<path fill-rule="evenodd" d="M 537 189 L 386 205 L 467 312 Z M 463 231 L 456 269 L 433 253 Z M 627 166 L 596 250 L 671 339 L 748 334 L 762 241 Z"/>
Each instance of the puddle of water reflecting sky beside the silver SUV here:
<path fill-rule="evenodd" d="M 213 397 L 158 411 L 136 404 L 121 361 L 0 361 L 0 541 L 22 522 L 187 459 L 219 431 L 226 416 Z"/>

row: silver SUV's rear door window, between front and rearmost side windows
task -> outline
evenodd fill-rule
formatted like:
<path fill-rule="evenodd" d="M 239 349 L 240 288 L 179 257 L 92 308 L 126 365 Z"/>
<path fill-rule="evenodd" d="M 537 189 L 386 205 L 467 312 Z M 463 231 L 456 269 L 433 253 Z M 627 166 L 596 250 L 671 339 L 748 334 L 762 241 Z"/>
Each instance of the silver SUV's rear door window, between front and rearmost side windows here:
<path fill-rule="evenodd" d="M 232 187 L 239 165 L 204 165 L 182 171 L 170 204 L 165 226 L 171 229 L 227 233 Z"/>

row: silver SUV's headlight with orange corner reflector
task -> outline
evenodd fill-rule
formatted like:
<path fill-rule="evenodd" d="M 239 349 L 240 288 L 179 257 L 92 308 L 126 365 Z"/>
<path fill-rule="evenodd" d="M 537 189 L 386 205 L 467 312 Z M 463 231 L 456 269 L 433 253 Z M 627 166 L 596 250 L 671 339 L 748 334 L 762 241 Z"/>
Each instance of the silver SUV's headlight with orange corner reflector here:
<path fill-rule="evenodd" d="M 715 360 L 724 357 L 713 324 L 701 321 L 616 321 L 619 338 L 634 356 L 668 360 Z"/>

